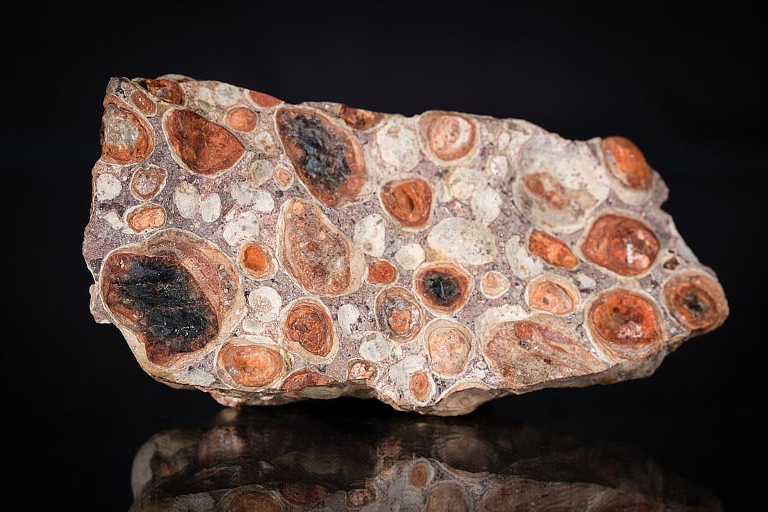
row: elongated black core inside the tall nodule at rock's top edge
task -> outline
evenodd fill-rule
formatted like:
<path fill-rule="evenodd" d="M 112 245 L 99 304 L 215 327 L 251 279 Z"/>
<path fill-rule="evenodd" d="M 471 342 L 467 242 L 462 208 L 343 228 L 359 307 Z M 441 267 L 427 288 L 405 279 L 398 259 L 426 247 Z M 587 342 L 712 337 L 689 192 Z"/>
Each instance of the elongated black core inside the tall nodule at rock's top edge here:
<path fill-rule="evenodd" d="M 316 187 L 336 191 L 349 178 L 346 144 L 316 117 L 299 114 L 288 121 L 286 137 L 302 150 L 299 167 Z"/>

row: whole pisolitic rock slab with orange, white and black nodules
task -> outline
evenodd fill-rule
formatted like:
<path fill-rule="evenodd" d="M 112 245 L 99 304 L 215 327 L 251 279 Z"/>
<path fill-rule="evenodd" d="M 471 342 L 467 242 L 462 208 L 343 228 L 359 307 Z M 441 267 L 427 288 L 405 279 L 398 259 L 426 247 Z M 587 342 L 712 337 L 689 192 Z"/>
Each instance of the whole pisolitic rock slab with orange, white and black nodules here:
<path fill-rule="evenodd" d="M 225 405 L 650 375 L 728 315 L 622 137 L 113 78 L 84 257 L 142 368 Z"/>

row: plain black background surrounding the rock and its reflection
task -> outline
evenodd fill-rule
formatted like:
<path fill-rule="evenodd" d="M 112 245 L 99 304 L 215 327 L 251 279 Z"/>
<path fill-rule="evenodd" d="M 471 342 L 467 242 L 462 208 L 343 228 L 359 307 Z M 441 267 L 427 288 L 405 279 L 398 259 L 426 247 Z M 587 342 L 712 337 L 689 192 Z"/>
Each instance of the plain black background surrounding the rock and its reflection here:
<path fill-rule="evenodd" d="M 621 441 L 712 491 L 727 510 L 764 485 L 765 81 L 762 21 L 740 5 L 236 6 L 125 3 L 6 20 L 3 123 L 3 422 L 12 495 L 44 508 L 127 510 L 131 459 L 151 434 L 219 410 L 141 372 L 88 312 L 81 257 L 108 78 L 175 72 L 289 102 L 520 117 L 564 137 L 634 140 L 670 188 L 664 209 L 717 271 L 731 315 L 656 374 L 540 391 L 481 408 L 509 421 Z M 578 5 L 576 5 L 578 3 Z M 8 36 L 6 34 L 4 39 Z M 360 410 L 339 400 L 307 414 Z M 16 457 L 14 460 L 14 456 Z M 4 457 L 5 458 L 5 457 Z M 26 507 L 25 507 L 26 508 Z"/>

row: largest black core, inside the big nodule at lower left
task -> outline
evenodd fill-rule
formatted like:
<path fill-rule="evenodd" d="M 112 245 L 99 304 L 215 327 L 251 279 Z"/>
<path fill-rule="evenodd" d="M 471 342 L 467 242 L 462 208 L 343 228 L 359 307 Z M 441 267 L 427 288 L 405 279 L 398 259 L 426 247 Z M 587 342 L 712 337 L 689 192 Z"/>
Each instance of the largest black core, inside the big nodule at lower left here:
<path fill-rule="evenodd" d="M 168 259 L 139 256 L 116 280 L 124 306 L 141 313 L 147 334 L 172 352 L 192 352 L 212 326 L 210 308 L 191 277 Z M 214 326 L 215 328 L 215 326 Z"/>

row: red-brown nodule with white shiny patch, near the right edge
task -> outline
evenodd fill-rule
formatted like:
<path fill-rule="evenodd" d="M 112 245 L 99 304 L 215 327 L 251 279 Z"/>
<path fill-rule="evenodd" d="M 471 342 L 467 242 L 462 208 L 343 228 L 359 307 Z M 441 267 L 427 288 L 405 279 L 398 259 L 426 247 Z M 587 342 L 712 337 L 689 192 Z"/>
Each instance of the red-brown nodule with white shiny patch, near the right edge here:
<path fill-rule="evenodd" d="M 592 224 L 581 253 L 620 276 L 637 276 L 654 264 L 659 248 L 659 239 L 641 221 L 606 213 Z"/>

